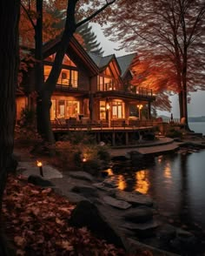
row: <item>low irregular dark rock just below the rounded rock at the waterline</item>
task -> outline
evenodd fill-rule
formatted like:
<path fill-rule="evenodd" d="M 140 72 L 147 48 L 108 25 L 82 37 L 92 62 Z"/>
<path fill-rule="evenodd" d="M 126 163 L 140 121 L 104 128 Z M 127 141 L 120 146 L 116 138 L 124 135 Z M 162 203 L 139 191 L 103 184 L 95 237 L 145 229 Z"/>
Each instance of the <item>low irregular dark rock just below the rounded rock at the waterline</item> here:
<path fill-rule="evenodd" d="M 159 223 L 155 220 L 149 220 L 145 223 L 133 223 L 125 222 L 122 224 L 123 228 L 130 229 L 136 232 L 137 237 L 149 237 L 154 235 L 155 229 L 159 226 Z"/>

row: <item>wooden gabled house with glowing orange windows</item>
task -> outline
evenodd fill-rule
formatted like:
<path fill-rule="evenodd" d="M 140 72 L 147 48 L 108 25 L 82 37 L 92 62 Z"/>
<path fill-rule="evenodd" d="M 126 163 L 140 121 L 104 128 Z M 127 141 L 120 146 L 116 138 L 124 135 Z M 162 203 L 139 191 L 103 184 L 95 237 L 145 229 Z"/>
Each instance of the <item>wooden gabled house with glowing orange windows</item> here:
<path fill-rule="evenodd" d="M 50 74 L 55 57 L 57 39 L 43 46 L 44 79 Z M 133 74 L 130 64 L 136 54 L 116 57 L 96 56 L 84 51 L 83 47 L 72 37 L 66 55 L 63 58 L 63 69 L 52 95 L 50 118 L 82 119 L 99 122 L 100 120 L 129 120 L 131 110 L 138 106 L 138 118 L 142 107 L 148 109 L 146 118 L 150 118 L 151 103 L 155 100 L 152 91 L 129 84 Z M 24 88 L 32 88 L 34 77 L 32 71 Z M 25 83 L 25 82 L 24 82 Z M 30 86 L 28 86 L 30 84 Z M 22 108 L 31 104 L 30 92 L 17 94 L 17 119 Z"/>

